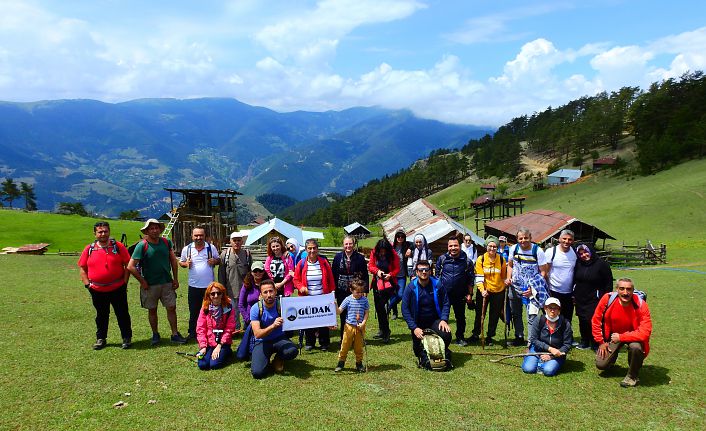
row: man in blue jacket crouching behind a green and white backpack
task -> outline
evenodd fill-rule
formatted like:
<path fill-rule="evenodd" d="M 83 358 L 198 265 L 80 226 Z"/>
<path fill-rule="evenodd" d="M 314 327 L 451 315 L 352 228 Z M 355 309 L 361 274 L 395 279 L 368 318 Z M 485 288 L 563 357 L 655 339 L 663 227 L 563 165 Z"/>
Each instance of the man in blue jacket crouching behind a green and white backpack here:
<path fill-rule="evenodd" d="M 449 328 L 449 298 L 446 289 L 431 276 L 431 267 L 426 260 L 417 262 L 415 269 L 417 278 L 405 287 L 402 296 L 402 316 L 407 327 L 412 331 L 412 350 L 419 358 L 423 358 L 422 338 L 424 330 L 436 332 L 446 346 L 446 358 L 451 359 L 449 345 L 451 344 L 451 328 Z"/>

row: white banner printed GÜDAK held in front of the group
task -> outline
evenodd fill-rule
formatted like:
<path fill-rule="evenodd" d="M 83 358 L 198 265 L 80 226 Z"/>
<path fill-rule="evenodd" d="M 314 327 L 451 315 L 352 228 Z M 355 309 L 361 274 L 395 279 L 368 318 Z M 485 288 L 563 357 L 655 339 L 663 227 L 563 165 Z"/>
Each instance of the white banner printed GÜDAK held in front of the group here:
<path fill-rule="evenodd" d="M 289 296 L 281 299 L 285 331 L 336 326 L 336 296 Z"/>

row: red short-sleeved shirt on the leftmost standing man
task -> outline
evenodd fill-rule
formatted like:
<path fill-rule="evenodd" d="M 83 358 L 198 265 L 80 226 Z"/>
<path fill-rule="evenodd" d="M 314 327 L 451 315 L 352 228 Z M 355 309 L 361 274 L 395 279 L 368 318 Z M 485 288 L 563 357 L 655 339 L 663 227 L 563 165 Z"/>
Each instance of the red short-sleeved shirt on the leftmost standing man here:
<path fill-rule="evenodd" d="M 93 246 L 93 251 L 89 250 Z M 87 245 L 78 259 L 78 266 L 87 268 L 90 288 L 96 292 L 111 292 L 125 284 L 125 265 L 130 254 L 125 246 L 111 240 L 107 247 L 97 242 Z"/>

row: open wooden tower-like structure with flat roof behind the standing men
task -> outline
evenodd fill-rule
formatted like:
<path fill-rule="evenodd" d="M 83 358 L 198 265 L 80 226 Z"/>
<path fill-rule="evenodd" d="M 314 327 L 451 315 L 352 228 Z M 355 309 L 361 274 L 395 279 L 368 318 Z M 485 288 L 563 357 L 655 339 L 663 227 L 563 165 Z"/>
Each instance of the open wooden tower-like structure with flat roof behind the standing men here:
<path fill-rule="evenodd" d="M 169 192 L 170 220 L 162 236 L 171 234 L 177 250 L 191 242 L 191 231 L 196 226 L 206 228 L 208 241 L 219 249 L 231 232 L 238 230 L 235 218 L 235 200 L 242 193 L 235 190 L 164 189 Z M 174 194 L 181 197 L 174 206 Z"/>

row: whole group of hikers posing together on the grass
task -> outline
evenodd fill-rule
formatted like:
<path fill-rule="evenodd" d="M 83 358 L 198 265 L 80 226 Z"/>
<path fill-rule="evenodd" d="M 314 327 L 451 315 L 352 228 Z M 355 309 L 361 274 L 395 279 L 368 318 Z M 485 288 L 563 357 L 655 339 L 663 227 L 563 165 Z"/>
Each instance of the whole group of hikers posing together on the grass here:
<path fill-rule="evenodd" d="M 231 234 L 230 246 L 219 251 L 206 241 L 203 228 L 193 230 L 192 242 L 177 258 L 171 241 L 161 236 L 163 230 L 158 220 L 147 220 L 141 229 L 144 238 L 130 253 L 110 238 L 107 222 L 95 224 L 95 241 L 86 246 L 78 262 L 81 279 L 96 309 L 94 349 L 107 345 L 110 306 L 120 327 L 121 347 L 131 347 L 127 281 L 132 275 L 140 284 L 140 303 L 148 310 L 152 345 L 161 342 L 157 318 L 161 301 L 171 341 L 183 344 L 196 340 L 201 369 L 222 367 L 233 354 L 234 336 L 239 332 L 249 334 L 241 343 L 248 345 L 241 347 L 251 358 L 255 378 L 263 378 L 270 371 L 281 372 L 284 362 L 299 352 L 290 340 L 292 334 L 282 329 L 278 299 L 291 296 L 295 290 L 299 296 L 335 293 L 341 319 L 341 348 L 335 371 L 345 367 L 351 347 L 356 370 L 365 370 L 369 292 L 378 321 L 373 338 L 390 342 L 390 317 L 395 318 L 401 306 L 420 365 L 429 359 L 422 344 L 425 331 L 441 337 L 450 361 L 452 310 L 454 335 L 460 347 L 478 341 L 493 345 L 501 318 L 512 322 L 512 344 L 528 348 L 522 364 L 526 373 L 553 376 L 560 370 L 574 344 L 574 311 L 581 334 L 577 347 L 594 349 L 599 369 L 612 365 L 620 347 L 628 345 L 630 365 L 621 385 L 637 384 L 640 367 L 649 353 L 652 324 L 647 303 L 634 292 L 629 279 L 618 280 L 617 292 L 612 292 L 610 267 L 591 247 L 574 247 L 574 234 L 569 230 L 562 231 L 559 244 L 547 250 L 533 244 L 531 233 L 523 228 L 512 247 L 504 237 L 486 238 L 485 250 L 474 244 L 470 235 L 451 237 L 446 252 L 436 259 L 424 235 L 416 234 L 408 241 L 405 232 L 398 231 L 393 243 L 385 238 L 378 241 L 367 262 L 356 251 L 355 238 L 346 236 L 343 250 L 332 263 L 319 254 L 314 239 L 307 240 L 302 249 L 296 239 L 283 242 L 277 236 L 267 242 L 265 262 L 253 262 L 239 232 Z M 189 272 L 187 337 L 177 330 L 175 291 L 180 266 Z M 469 338 L 465 337 L 466 309 L 475 310 Z M 527 315 L 527 341 L 523 311 Z M 486 314 L 487 336 L 483 333 Z M 318 341 L 321 350 L 328 350 L 331 329 L 304 330 L 304 348 L 310 351 Z"/>

